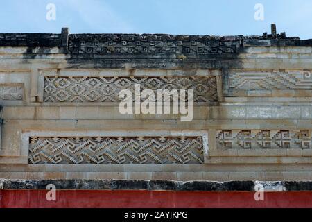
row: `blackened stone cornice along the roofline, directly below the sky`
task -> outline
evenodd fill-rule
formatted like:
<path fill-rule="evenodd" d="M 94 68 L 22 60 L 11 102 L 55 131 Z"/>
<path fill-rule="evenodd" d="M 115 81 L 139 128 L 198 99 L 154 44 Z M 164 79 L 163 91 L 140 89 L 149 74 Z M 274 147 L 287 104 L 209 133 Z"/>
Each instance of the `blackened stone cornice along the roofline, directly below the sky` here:
<path fill-rule="evenodd" d="M 284 35 L 252 36 L 210 36 L 210 35 L 168 35 L 168 34 L 69 34 L 62 33 L 0 33 L 0 46 L 27 46 L 28 52 L 35 47 L 59 47 L 73 58 L 91 56 L 153 55 L 167 56 L 217 56 L 231 55 L 243 51 L 245 46 L 312 46 L 312 40 Z M 33 54 L 40 54 L 36 51 Z"/>

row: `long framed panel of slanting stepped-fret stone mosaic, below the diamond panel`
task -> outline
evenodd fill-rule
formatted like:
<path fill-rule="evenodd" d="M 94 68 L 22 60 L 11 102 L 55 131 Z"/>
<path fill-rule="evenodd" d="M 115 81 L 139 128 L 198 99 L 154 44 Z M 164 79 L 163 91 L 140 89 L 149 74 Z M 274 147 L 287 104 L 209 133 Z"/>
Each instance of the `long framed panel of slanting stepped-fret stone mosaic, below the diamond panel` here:
<path fill-rule="evenodd" d="M 202 137 L 30 137 L 31 164 L 201 164 Z"/>

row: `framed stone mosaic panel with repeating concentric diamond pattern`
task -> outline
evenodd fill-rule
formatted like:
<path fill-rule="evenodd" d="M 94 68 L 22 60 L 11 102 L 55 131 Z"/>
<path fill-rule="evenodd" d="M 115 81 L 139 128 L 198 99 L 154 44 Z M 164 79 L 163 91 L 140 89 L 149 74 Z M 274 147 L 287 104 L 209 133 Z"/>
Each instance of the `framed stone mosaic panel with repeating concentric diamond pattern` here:
<path fill-rule="evenodd" d="M 121 89 L 194 89 L 194 102 L 216 102 L 216 76 L 44 78 L 44 102 L 120 102 Z"/>

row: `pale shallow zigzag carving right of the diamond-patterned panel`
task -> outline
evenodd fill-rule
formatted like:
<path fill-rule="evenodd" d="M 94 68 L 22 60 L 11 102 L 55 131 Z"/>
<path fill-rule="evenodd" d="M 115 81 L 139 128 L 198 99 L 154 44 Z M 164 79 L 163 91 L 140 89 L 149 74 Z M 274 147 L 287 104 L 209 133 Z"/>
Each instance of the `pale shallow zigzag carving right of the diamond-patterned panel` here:
<path fill-rule="evenodd" d="M 229 88 L 257 89 L 312 89 L 311 71 L 241 72 L 229 74 Z"/>

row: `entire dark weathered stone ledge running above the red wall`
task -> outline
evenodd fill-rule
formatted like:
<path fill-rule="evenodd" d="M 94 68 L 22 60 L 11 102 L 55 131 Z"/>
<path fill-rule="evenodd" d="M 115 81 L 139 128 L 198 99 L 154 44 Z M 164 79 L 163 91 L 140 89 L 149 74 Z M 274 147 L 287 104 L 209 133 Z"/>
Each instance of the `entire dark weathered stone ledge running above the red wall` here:
<path fill-rule="evenodd" d="M 262 184 L 265 191 L 312 191 L 312 181 L 174 181 L 174 180 L 9 180 L 0 179 L 0 189 L 149 190 L 149 191 L 255 191 Z M 280 189 L 282 187 L 282 189 Z"/>

